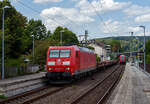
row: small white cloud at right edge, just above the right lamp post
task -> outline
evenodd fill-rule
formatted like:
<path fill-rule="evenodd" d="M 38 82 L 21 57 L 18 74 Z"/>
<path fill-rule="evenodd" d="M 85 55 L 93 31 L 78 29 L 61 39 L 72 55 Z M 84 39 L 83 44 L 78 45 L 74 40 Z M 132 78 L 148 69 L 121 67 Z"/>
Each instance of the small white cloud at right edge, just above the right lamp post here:
<path fill-rule="evenodd" d="M 142 16 L 137 16 L 135 22 L 150 22 L 150 13 Z"/>

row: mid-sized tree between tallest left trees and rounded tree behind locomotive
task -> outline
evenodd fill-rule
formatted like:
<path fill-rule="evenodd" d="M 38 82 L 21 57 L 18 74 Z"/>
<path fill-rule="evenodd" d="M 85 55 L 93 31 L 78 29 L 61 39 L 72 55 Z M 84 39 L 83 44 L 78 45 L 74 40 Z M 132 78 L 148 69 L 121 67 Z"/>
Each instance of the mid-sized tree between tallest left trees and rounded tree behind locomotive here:
<path fill-rule="evenodd" d="M 24 43 L 23 48 L 25 52 L 29 52 L 32 49 L 32 36 L 34 36 L 34 40 L 45 40 L 51 35 L 51 31 L 46 30 L 41 20 L 34 19 L 29 20 L 24 32 L 25 35 L 22 41 Z"/>

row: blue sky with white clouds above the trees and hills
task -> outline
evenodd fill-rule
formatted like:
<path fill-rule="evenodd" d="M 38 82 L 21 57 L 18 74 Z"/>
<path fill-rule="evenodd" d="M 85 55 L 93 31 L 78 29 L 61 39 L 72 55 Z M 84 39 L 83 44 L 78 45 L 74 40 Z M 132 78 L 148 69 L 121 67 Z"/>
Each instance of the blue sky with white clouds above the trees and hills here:
<path fill-rule="evenodd" d="M 89 39 L 150 36 L 150 0 L 10 0 L 28 19 L 41 19 L 52 32 L 67 27 L 77 35 L 88 30 Z"/>

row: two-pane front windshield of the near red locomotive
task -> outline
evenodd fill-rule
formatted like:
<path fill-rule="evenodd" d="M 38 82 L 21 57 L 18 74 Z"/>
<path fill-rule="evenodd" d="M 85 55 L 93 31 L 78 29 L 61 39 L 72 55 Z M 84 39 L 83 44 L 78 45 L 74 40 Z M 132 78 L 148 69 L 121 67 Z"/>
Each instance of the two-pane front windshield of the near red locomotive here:
<path fill-rule="evenodd" d="M 70 49 L 50 50 L 50 58 L 67 58 L 70 57 Z"/>

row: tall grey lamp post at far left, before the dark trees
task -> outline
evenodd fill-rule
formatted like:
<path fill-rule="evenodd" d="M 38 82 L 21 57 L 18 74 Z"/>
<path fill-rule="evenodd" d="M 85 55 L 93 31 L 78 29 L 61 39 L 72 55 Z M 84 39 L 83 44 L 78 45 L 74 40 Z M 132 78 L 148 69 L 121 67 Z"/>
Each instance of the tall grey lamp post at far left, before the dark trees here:
<path fill-rule="evenodd" d="M 2 12 L 3 12 L 3 15 L 2 15 L 2 80 L 5 78 L 5 69 L 4 69 L 4 17 L 5 17 L 5 9 L 7 8 L 10 8 L 9 6 L 5 6 L 2 8 Z"/>

